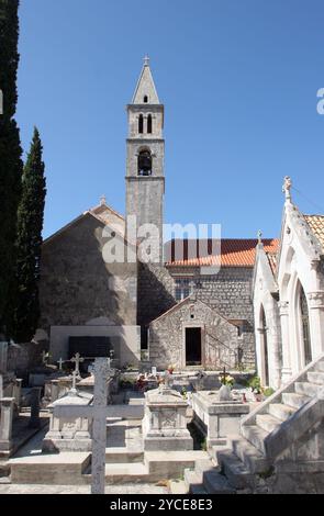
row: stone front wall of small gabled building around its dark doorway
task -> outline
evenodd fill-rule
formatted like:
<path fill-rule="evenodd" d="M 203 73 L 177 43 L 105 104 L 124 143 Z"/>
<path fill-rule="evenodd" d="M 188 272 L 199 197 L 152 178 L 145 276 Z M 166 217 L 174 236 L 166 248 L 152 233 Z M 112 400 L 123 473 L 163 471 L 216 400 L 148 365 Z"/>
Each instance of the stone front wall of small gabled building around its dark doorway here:
<path fill-rule="evenodd" d="M 149 358 L 160 369 L 186 368 L 186 328 L 201 327 L 202 367 L 235 369 L 238 328 L 199 300 L 187 299 L 149 326 Z"/>

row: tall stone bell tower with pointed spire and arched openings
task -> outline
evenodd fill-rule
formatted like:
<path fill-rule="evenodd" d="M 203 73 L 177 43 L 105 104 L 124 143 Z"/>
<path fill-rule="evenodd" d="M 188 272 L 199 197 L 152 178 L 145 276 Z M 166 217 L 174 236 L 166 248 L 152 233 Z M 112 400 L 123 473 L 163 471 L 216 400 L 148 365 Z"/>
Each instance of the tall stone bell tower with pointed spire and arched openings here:
<path fill-rule="evenodd" d="M 126 216 L 136 215 L 137 229 L 154 224 L 156 247 L 163 259 L 163 205 L 165 193 L 164 105 L 159 102 L 149 59 L 144 66 L 132 103 L 127 105 Z"/>

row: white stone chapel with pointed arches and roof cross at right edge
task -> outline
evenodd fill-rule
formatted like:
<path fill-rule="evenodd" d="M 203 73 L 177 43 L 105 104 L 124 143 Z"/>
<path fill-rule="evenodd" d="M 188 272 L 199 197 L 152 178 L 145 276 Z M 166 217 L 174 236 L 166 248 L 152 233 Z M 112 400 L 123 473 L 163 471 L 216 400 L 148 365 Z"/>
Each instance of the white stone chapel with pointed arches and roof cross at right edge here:
<path fill-rule="evenodd" d="M 301 213 L 291 187 L 278 253 L 259 242 L 253 281 L 257 370 L 273 388 L 324 352 L 324 216 Z"/>

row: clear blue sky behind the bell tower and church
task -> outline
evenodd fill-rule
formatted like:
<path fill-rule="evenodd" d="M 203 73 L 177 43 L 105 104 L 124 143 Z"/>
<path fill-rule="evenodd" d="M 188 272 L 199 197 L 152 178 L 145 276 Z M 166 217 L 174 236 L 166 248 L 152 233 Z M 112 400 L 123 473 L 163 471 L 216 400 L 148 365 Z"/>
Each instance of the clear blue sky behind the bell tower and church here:
<path fill-rule="evenodd" d="M 282 179 L 324 213 L 322 0 L 22 0 L 18 122 L 41 131 L 44 236 L 108 202 L 124 213 L 125 104 L 150 56 L 166 105 L 169 223 L 280 232 Z"/>

